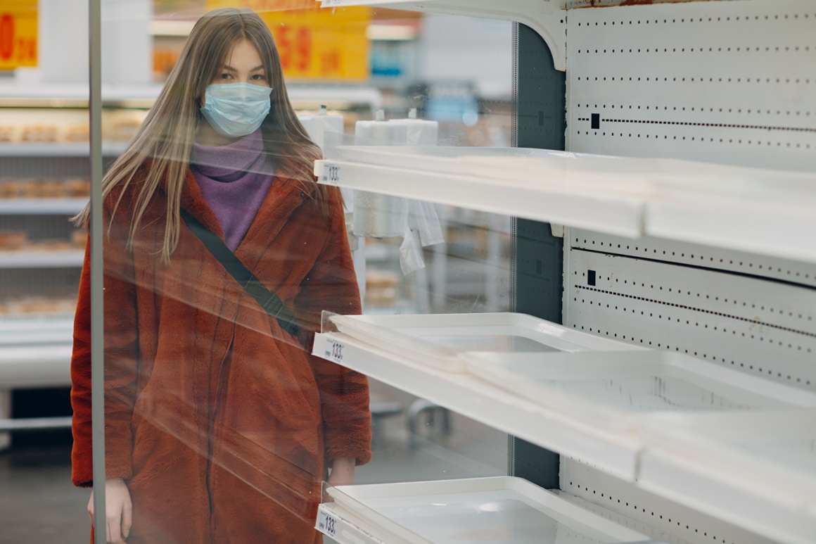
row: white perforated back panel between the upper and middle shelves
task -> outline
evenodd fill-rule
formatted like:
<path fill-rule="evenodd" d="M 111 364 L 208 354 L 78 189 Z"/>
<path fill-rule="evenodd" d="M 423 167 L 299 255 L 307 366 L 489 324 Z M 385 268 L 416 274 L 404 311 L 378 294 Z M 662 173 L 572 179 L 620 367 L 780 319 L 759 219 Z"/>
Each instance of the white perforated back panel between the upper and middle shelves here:
<path fill-rule="evenodd" d="M 565 281 L 574 328 L 816 391 L 812 288 L 575 248 Z"/>

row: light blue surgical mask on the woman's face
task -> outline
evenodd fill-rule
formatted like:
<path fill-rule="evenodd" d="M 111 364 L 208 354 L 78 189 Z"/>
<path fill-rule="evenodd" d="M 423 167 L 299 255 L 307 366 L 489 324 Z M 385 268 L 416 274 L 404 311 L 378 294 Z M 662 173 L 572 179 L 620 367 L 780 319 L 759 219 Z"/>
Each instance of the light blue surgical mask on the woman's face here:
<path fill-rule="evenodd" d="M 251 83 L 207 85 L 201 112 L 221 136 L 246 136 L 264 123 L 271 93 L 270 87 Z"/>

